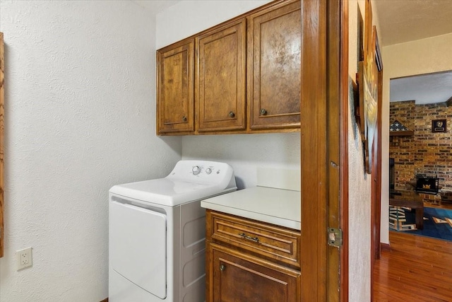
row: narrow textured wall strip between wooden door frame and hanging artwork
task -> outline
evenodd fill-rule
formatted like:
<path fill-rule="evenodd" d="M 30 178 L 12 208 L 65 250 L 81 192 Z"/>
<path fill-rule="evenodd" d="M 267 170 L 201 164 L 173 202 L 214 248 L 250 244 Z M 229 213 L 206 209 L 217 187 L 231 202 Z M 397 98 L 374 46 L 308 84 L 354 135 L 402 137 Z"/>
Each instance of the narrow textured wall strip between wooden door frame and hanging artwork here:
<path fill-rule="evenodd" d="M 364 172 L 363 146 L 355 120 L 352 79 L 358 62 L 358 11 L 364 0 L 349 1 L 349 301 L 370 301 L 371 178 Z"/>

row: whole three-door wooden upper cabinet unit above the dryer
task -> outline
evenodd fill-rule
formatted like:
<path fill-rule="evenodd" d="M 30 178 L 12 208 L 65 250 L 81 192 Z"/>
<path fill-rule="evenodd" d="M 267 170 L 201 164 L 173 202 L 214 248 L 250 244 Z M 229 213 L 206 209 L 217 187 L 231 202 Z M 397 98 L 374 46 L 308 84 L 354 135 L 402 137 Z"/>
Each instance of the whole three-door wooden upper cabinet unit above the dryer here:
<path fill-rule="evenodd" d="M 299 0 L 157 50 L 157 134 L 299 131 Z"/>

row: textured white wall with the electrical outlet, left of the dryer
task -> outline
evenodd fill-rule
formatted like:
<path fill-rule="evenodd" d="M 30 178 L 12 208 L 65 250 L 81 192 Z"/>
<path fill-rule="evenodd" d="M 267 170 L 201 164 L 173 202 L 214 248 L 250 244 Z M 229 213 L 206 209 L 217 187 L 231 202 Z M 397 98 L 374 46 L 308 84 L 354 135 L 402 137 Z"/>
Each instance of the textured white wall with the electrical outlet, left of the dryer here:
<path fill-rule="evenodd" d="M 107 297 L 109 187 L 162 177 L 155 18 L 131 1 L 0 1 L 6 43 L 0 301 Z M 33 266 L 16 271 L 15 251 Z"/>

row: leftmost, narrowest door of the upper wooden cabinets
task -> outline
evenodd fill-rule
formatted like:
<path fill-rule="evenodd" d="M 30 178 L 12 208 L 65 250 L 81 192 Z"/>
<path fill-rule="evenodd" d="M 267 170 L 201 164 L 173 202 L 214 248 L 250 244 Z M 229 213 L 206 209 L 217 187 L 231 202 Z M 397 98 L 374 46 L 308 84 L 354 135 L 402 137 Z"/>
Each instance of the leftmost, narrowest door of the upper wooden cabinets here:
<path fill-rule="evenodd" d="M 157 134 L 194 132 L 194 40 L 157 51 Z"/>

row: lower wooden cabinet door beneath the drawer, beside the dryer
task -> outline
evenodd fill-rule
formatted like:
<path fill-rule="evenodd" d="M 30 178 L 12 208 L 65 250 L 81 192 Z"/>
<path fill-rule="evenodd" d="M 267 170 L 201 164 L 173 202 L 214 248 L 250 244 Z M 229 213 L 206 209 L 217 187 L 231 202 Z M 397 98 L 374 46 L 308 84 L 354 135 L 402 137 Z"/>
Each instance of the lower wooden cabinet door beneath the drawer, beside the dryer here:
<path fill-rule="evenodd" d="M 210 243 L 213 302 L 298 301 L 299 272 Z"/>

